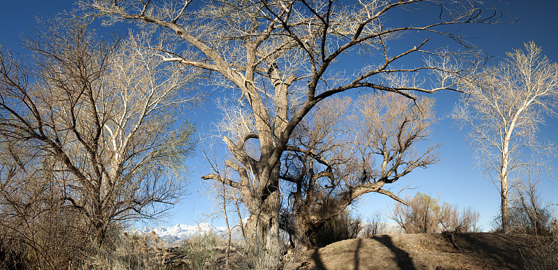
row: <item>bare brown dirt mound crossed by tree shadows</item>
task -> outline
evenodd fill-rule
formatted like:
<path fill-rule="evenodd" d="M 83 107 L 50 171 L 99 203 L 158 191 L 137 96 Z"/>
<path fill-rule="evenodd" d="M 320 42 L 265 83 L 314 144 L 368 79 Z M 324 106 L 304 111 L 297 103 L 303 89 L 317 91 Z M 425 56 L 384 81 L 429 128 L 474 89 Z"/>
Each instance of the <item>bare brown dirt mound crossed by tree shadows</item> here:
<path fill-rule="evenodd" d="M 387 234 L 306 250 L 296 269 L 521 269 L 533 243 L 485 232 Z"/>

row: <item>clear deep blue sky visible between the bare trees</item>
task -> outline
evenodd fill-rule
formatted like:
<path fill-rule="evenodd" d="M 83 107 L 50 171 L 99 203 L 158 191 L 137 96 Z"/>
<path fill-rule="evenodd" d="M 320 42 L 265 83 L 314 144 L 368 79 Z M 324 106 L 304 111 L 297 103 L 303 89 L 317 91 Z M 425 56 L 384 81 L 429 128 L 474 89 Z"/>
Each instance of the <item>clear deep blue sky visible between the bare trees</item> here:
<path fill-rule="evenodd" d="M 44 0 L 20 0 L 3 1 L 0 9 L 0 44 L 12 45 L 17 49 L 20 34 L 26 33 L 35 25 L 36 16 L 52 16 L 64 10 L 73 9 L 70 0 L 44 1 Z M 508 0 L 504 3 L 498 0 L 488 0 L 485 3 L 492 4 L 504 11 L 504 18 L 520 19 L 513 24 L 499 25 L 477 25 L 467 27 L 467 35 L 474 37 L 472 43 L 479 45 L 488 54 L 495 57 L 495 61 L 502 59 L 505 52 L 514 48 L 521 48 L 523 43 L 534 40 L 536 45 L 543 48 L 545 54 L 551 61 L 558 61 L 558 1 L 533 0 L 520 1 Z M 208 111 L 198 110 L 192 114 L 191 121 L 195 121 L 199 130 L 210 130 L 212 122 L 218 121 L 219 114 L 212 112 L 213 102 L 219 93 L 213 93 L 207 104 Z M 484 230 L 490 229 L 490 220 L 497 214 L 499 209 L 499 195 L 492 182 L 485 179 L 480 170 L 474 166 L 472 150 L 465 142 L 465 134 L 457 128 L 453 128 L 452 121 L 443 119 L 444 114 L 449 112 L 455 102 L 458 101 L 458 93 L 437 92 L 431 95 L 436 101 L 437 117 L 442 118 L 432 130 L 432 143 L 441 143 L 442 162 L 433 165 L 426 170 L 416 170 L 409 174 L 406 179 L 400 179 L 400 186 L 412 183 L 418 186 L 409 193 L 416 191 L 432 196 L 439 196 L 444 202 L 457 204 L 458 207 L 474 207 L 481 214 L 479 225 Z M 546 125 L 541 126 L 538 137 L 552 142 L 558 142 L 558 120 L 547 119 Z M 190 177 L 189 195 L 176 206 L 174 213 L 166 218 L 160 225 L 173 225 L 176 223 L 192 225 L 202 218 L 201 214 L 211 210 L 211 202 L 206 200 L 206 195 L 200 193 L 202 181 L 199 179 L 203 174 L 209 172 L 206 161 L 201 153 L 190 158 L 188 164 L 192 169 Z M 558 169 L 558 160 L 552 160 L 550 164 Z M 558 202 L 557 170 L 552 173 L 555 177 L 545 179 L 539 188 L 543 199 L 547 202 Z M 394 188 L 395 190 L 395 188 Z M 368 194 L 363 196 L 356 207 L 356 211 L 366 218 L 378 209 L 386 209 L 393 204 L 393 200 L 379 194 Z M 216 225 L 222 225 L 216 220 Z"/>

